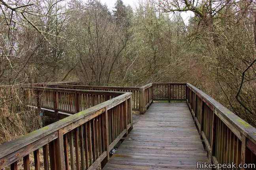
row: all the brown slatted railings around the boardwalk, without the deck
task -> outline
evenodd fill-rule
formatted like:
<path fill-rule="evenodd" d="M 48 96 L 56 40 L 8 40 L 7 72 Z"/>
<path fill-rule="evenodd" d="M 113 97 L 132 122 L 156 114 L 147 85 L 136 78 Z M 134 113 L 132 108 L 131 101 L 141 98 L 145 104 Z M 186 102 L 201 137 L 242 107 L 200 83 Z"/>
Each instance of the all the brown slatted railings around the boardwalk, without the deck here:
<path fill-rule="evenodd" d="M 22 158 L 24 169 L 29 169 L 30 153 L 39 169 L 41 152 L 45 169 L 94 169 L 109 159 L 109 150 L 132 128 L 132 109 L 143 114 L 153 100 L 186 100 L 213 163 L 256 163 L 256 128 L 189 83 L 53 87 L 58 88 L 33 87 L 38 97 L 32 103 L 55 112 L 86 110 L 1 145 L 0 170 L 9 165 L 15 169 Z"/>

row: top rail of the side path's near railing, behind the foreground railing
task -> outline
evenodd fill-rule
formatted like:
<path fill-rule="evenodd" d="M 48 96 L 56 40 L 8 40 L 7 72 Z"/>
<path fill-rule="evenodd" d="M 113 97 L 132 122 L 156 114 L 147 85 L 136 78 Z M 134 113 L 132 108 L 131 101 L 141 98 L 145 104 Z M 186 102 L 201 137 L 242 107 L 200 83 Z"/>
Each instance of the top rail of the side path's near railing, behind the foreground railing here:
<path fill-rule="evenodd" d="M 94 92 L 94 93 L 114 93 L 114 94 L 124 94 L 126 92 L 120 92 L 120 91 L 97 91 L 97 90 L 80 90 L 80 89 L 62 89 L 62 88 L 51 88 L 51 87 L 29 87 L 32 89 L 47 89 L 47 90 L 53 90 L 53 91 L 71 91 L 71 92 Z"/>

